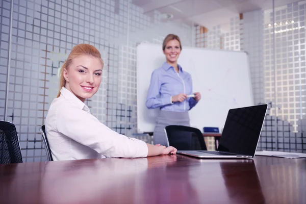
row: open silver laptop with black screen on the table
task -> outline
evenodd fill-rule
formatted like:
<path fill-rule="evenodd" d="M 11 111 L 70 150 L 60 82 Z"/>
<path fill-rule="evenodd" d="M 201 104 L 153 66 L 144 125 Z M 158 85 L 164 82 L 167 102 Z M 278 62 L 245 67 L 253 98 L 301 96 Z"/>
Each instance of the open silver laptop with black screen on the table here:
<path fill-rule="evenodd" d="M 176 153 L 197 158 L 253 158 L 259 142 L 268 105 L 228 111 L 217 151 L 179 150 Z"/>

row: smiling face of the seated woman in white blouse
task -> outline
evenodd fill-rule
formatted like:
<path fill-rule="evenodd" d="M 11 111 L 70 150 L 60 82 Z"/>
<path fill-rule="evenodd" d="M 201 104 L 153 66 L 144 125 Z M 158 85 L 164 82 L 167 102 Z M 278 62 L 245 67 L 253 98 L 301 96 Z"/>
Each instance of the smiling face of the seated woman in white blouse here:
<path fill-rule="evenodd" d="M 83 102 L 92 97 L 99 89 L 103 65 L 99 58 L 82 55 L 72 60 L 64 69 L 65 88 Z"/>

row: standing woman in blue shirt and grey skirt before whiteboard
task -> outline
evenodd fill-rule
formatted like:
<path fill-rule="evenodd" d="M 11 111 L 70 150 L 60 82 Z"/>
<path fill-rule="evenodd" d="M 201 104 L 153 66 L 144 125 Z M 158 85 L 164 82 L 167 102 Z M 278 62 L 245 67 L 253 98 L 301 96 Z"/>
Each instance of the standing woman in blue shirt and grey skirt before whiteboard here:
<path fill-rule="evenodd" d="M 163 42 L 166 62 L 151 75 L 146 107 L 161 110 L 153 134 L 155 144 L 168 145 L 167 125 L 190 126 L 188 111 L 201 99 L 199 92 L 192 92 L 191 75 L 177 64 L 181 50 L 179 36 L 167 35 Z M 190 94 L 194 96 L 188 97 Z"/>

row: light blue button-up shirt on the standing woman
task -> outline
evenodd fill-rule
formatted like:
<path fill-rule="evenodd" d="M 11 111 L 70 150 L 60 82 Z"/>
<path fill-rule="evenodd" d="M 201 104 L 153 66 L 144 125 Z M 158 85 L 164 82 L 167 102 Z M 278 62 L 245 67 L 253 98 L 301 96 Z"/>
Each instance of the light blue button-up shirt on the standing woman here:
<path fill-rule="evenodd" d="M 160 108 L 163 111 L 185 112 L 197 104 L 193 97 L 172 103 L 172 96 L 180 93 L 192 94 L 191 75 L 183 71 L 180 65 L 177 66 L 179 73 L 167 62 L 153 71 L 145 103 L 148 109 Z"/>

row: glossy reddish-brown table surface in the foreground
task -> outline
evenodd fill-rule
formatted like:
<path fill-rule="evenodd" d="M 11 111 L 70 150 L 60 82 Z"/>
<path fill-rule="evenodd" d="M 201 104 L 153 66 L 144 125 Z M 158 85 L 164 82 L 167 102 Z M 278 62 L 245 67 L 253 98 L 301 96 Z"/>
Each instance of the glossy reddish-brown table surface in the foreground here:
<path fill-rule="evenodd" d="M 6 164 L 0 203 L 306 203 L 306 159 L 169 155 Z"/>

